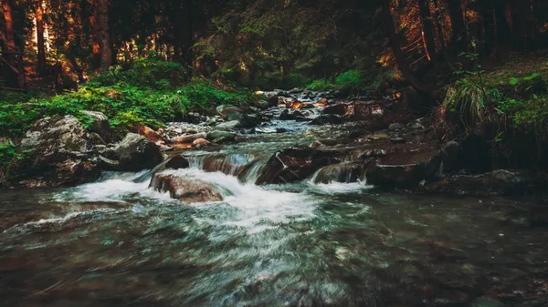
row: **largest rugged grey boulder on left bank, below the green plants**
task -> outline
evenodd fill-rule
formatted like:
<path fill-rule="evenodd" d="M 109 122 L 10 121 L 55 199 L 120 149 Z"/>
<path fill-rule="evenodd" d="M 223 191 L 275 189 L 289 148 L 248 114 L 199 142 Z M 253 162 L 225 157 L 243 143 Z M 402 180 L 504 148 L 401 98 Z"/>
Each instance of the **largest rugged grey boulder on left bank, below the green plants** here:
<path fill-rule="evenodd" d="M 104 141 L 73 116 L 37 120 L 21 141 L 19 158 L 6 170 L 11 185 L 27 188 L 74 186 L 100 176 L 92 150 Z"/>

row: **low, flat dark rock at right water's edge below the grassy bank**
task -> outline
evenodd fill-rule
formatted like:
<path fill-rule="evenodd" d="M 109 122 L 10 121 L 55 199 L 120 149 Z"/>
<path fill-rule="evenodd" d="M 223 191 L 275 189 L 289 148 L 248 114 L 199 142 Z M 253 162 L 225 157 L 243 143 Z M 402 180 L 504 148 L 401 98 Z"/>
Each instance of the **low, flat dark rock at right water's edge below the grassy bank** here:
<path fill-rule="evenodd" d="M 536 178 L 525 170 L 497 169 L 480 175 L 456 175 L 428 183 L 428 192 L 469 195 L 518 195 L 536 188 Z"/>

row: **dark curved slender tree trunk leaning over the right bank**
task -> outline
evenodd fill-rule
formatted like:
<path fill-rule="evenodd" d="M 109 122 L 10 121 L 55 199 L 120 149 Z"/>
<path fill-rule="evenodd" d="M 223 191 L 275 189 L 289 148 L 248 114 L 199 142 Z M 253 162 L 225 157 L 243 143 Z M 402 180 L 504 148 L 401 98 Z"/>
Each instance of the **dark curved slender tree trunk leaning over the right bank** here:
<path fill-rule="evenodd" d="M 390 3 L 387 0 L 383 1 L 383 7 L 382 7 L 382 18 L 385 23 L 385 29 L 386 34 L 388 36 L 388 41 L 390 43 L 390 48 L 392 49 L 392 52 L 394 53 L 395 62 L 397 63 L 397 66 L 401 70 L 402 74 L 406 78 L 407 82 L 411 84 L 412 87 L 415 87 L 416 89 L 429 93 L 430 91 L 428 88 L 423 85 L 413 74 L 411 71 L 411 68 L 409 67 L 409 63 L 407 63 L 406 55 L 404 52 L 402 52 L 401 44 L 399 42 L 399 37 L 397 36 L 397 33 L 395 32 L 395 26 L 394 26 L 394 19 L 392 17 L 392 12 L 390 11 Z"/>

